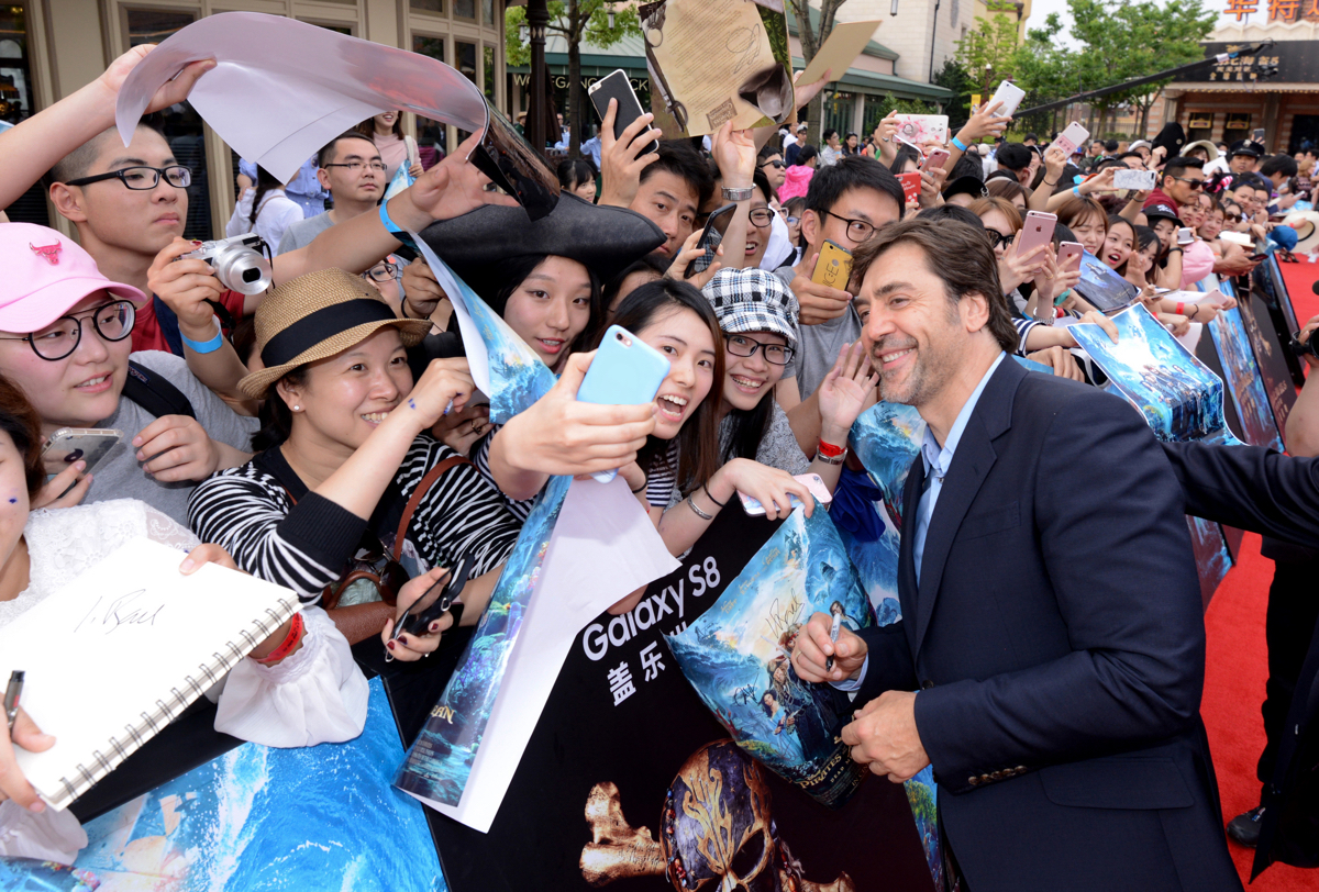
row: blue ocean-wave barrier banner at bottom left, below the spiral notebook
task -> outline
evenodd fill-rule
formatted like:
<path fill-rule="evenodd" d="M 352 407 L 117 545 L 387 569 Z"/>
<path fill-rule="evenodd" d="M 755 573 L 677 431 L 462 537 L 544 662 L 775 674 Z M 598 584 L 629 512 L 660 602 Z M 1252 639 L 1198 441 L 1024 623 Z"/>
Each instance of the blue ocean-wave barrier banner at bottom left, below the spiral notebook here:
<path fill-rule="evenodd" d="M 86 823 L 99 892 L 443 892 L 422 806 L 390 781 L 404 747 L 379 679 L 347 743 L 230 750 Z"/>

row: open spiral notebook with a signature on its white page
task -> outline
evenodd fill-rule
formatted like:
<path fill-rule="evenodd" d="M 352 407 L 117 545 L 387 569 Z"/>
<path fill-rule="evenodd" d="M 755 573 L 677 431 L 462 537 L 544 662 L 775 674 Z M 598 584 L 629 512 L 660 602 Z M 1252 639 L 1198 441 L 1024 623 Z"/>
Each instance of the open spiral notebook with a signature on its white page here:
<path fill-rule="evenodd" d="M 82 796 L 298 610 L 289 589 L 135 539 L 0 628 L 0 684 L 55 744 L 16 748 L 57 809 Z"/>

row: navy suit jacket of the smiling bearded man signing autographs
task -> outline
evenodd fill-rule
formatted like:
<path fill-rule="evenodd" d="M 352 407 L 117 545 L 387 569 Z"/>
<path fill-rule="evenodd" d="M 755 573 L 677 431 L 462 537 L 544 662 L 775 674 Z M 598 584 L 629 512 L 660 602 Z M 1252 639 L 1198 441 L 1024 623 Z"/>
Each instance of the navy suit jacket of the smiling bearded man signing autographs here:
<path fill-rule="evenodd" d="M 917 516 L 917 457 L 902 497 Z M 902 622 L 865 630 L 859 701 L 915 719 L 971 892 L 1240 891 L 1199 719 L 1200 589 L 1145 420 L 1002 362 L 943 481 Z"/>

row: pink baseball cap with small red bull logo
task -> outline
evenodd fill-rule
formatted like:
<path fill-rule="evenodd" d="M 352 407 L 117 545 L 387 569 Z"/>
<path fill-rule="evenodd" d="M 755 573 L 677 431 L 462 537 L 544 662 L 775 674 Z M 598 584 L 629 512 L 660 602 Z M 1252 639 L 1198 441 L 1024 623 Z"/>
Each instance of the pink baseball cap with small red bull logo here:
<path fill-rule="evenodd" d="M 32 223 L 0 223 L 0 331 L 41 331 L 100 290 L 144 303 L 131 285 L 111 282 L 82 245 Z"/>

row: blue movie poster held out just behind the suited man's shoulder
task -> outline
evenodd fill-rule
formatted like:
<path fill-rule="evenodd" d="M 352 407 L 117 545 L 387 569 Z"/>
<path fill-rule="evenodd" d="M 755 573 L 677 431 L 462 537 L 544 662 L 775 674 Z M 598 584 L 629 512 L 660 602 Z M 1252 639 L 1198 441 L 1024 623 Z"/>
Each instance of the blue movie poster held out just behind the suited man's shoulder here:
<path fill-rule="evenodd" d="M 1216 374 L 1144 304 L 1112 319 L 1116 344 L 1099 325 L 1080 323 L 1068 331 L 1108 376 L 1109 386 L 1145 415 L 1154 436 L 1174 443 L 1237 441 L 1223 420 L 1223 382 Z"/>

